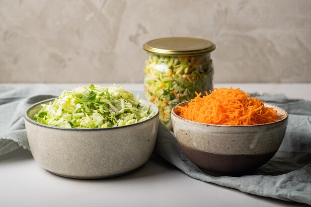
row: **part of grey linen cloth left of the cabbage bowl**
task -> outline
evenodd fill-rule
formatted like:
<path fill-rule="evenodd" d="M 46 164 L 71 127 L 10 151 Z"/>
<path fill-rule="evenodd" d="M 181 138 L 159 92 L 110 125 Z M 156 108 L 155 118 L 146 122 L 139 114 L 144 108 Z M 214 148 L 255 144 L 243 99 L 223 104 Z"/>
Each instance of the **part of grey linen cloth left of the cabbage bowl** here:
<path fill-rule="evenodd" d="M 61 89 L 44 84 L 0 87 L 0 155 L 19 146 L 30 150 L 23 118 L 26 109 L 39 101 L 59 96 L 61 92 Z"/>

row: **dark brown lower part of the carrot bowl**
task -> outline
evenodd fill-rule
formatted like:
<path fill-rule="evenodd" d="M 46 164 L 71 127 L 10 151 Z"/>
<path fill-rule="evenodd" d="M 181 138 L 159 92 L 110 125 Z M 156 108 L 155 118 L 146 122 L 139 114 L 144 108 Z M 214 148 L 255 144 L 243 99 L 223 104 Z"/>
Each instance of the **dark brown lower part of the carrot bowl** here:
<path fill-rule="evenodd" d="M 276 151 L 265 154 L 224 155 L 204 152 L 186 147 L 179 143 L 183 153 L 203 172 L 213 176 L 241 176 L 252 173 L 255 169 L 268 162 Z"/>

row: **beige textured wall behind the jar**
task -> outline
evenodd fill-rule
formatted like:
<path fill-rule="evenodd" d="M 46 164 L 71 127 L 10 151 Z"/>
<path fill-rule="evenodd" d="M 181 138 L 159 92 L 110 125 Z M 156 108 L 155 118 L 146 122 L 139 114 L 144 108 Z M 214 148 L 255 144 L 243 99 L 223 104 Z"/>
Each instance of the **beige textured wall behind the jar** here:
<path fill-rule="evenodd" d="M 217 82 L 311 82 L 311 0 L 1 0 L 0 82 L 141 82 L 154 38 L 217 45 Z"/>

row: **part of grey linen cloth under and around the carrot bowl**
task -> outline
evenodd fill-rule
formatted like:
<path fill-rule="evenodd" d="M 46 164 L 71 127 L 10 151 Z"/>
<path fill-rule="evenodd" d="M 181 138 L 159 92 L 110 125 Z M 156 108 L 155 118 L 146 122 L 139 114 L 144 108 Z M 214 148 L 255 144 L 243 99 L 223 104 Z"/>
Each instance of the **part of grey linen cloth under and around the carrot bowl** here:
<path fill-rule="evenodd" d="M 254 174 L 214 177 L 203 173 L 182 153 L 176 138 L 161 124 L 155 152 L 192 178 L 245 193 L 311 205 L 311 101 L 288 99 L 281 94 L 264 94 L 258 98 L 285 109 L 289 123 L 278 152 Z"/>

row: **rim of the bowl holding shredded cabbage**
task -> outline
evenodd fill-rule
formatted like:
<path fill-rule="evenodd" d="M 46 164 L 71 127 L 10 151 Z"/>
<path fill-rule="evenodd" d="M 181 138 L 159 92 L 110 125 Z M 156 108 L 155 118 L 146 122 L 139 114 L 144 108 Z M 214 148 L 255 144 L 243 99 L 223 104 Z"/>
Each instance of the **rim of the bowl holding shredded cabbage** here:
<path fill-rule="evenodd" d="M 151 121 L 153 119 L 156 119 L 156 117 L 159 116 L 159 109 L 158 107 L 156 106 L 156 104 L 152 103 L 152 102 L 149 102 L 147 100 L 144 100 L 144 99 L 140 99 L 139 101 L 143 101 L 143 102 L 146 102 L 148 104 L 151 104 L 151 105 L 154 105 L 156 106 L 156 114 L 155 116 L 151 117 L 150 119 L 147 119 L 145 121 L 142 121 L 142 122 L 138 122 L 138 123 L 134 123 L 134 124 L 131 124 L 131 125 L 125 125 L 125 126 L 118 126 L 118 127 L 109 127 L 109 128 L 65 128 L 65 127 L 55 127 L 55 126 L 50 126 L 50 125 L 45 125 L 45 124 L 41 124 L 41 123 L 38 123 L 38 122 L 35 122 L 33 121 L 32 119 L 30 119 L 27 115 L 28 111 L 30 109 L 32 109 L 33 107 L 37 106 L 37 105 L 40 105 L 40 104 L 43 104 L 43 103 L 46 103 L 46 102 L 50 102 L 52 100 L 55 100 L 56 98 L 58 97 L 55 97 L 55 98 L 49 98 L 49 99 L 46 99 L 46 100 L 43 100 L 43 101 L 39 101 L 35 104 L 32 104 L 31 106 L 29 106 L 26 111 L 24 112 L 24 120 L 26 120 L 27 122 L 33 124 L 33 125 L 37 125 L 39 127 L 45 127 L 45 128 L 50 128 L 50 129 L 57 129 L 57 130 L 65 130 L 65 131 L 76 131 L 76 132 L 79 132 L 79 131 L 83 131 L 83 132 L 87 132 L 87 131 L 106 131 L 106 130 L 117 130 L 117 129 L 123 129 L 123 128 L 126 128 L 126 127 L 131 127 L 131 126 L 136 126 L 136 125 L 139 125 L 139 124 L 142 124 L 142 123 L 145 123 L 145 122 L 148 122 L 148 121 Z"/>

